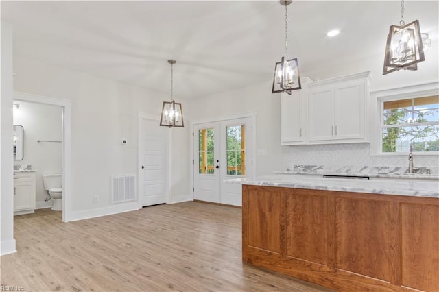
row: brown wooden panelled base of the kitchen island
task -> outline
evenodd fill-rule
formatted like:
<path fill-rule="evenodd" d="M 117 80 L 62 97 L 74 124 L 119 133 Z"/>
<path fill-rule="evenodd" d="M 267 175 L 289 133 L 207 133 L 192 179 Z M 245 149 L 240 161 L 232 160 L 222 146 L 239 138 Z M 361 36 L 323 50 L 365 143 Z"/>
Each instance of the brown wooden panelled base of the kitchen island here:
<path fill-rule="evenodd" d="M 244 185 L 242 256 L 339 291 L 439 291 L 439 199 Z"/>

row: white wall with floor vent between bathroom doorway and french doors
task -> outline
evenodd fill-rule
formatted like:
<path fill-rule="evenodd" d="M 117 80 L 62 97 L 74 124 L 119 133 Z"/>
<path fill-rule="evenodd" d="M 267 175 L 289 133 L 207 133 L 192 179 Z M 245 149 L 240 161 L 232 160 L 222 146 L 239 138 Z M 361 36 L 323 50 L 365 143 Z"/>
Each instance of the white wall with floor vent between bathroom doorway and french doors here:
<path fill-rule="evenodd" d="M 72 102 L 72 219 L 137 208 L 137 204 L 110 204 L 110 175 L 137 175 L 138 113 L 159 115 L 169 97 L 24 56 L 14 56 L 14 73 L 15 91 Z M 185 100 L 178 100 L 189 110 Z M 170 202 L 178 202 L 189 197 L 189 132 L 187 128 L 171 131 Z M 121 145 L 121 138 L 128 145 Z M 98 203 L 93 203 L 94 196 Z"/>

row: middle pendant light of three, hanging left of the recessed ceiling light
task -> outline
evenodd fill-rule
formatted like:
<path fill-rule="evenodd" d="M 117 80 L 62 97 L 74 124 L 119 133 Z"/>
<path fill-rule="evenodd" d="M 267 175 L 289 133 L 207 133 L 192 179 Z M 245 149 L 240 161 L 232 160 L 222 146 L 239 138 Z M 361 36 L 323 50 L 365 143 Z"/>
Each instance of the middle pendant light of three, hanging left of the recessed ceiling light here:
<path fill-rule="evenodd" d="M 291 95 L 292 90 L 302 88 L 298 60 L 297 58 L 288 59 L 288 5 L 292 1 L 280 0 L 279 2 L 285 6 L 285 56 L 274 66 L 272 93 L 286 92 Z"/>

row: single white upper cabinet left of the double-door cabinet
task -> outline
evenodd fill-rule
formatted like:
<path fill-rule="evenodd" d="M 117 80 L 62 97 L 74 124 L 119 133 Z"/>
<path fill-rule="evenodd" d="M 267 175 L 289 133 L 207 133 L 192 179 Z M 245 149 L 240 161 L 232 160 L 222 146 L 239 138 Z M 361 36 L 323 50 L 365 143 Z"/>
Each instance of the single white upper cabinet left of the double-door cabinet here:
<path fill-rule="evenodd" d="M 281 93 L 281 145 L 300 145 L 307 143 L 307 84 L 312 82 L 305 77 L 300 79 L 302 89 L 292 90 L 292 94 Z"/>

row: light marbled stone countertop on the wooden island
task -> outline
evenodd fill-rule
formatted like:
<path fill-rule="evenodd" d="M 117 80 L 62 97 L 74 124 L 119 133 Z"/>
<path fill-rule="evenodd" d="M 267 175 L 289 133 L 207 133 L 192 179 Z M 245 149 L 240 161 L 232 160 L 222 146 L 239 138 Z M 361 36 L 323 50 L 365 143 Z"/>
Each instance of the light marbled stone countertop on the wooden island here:
<path fill-rule="evenodd" d="M 400 178 L 371 178 L 370 180 L 361 180 L 349 178 L 323 178 L 322 176 L 317 175 L 278 174 L 257 178 L 235 178 L 226 180 L 226 182 L 252 186 L 279 186 L 286 188 L 310 188 L 327 191 L 439 198 L 439 180 L 402 180 Z"/>

